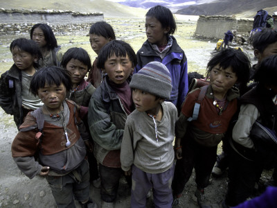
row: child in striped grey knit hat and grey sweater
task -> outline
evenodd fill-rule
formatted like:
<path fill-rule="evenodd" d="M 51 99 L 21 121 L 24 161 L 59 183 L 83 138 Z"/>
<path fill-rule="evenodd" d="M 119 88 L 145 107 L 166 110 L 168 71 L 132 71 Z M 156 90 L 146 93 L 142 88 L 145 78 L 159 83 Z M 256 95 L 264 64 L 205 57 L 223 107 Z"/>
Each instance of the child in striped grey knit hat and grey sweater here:
<path fill-rule="evenodd" d="M 178 112 L 163 102 L 170 98 L 170 72 L 161 62 L 150 62 L 134 74 L 130 87 L 136 110 L 127 117 L 120 162 L 125 174 L 131 175 L 132 166 L 131 207 L 145 207 L 151 188 L 155 207 L 171 207 Z"/>

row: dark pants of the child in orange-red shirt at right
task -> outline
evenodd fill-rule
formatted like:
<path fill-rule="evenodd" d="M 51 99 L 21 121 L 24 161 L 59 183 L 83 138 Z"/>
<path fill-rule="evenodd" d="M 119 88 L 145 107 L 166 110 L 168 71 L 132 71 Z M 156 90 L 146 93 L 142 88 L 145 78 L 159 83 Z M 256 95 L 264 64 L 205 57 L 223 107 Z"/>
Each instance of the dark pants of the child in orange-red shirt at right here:
<path fill-rule="evenodd" d="M 195 168 L 195 182 L 198 189 L 208 186 L 211 171 L 217 159 L 217 146 L 206 147 L 197 144 L 193 139 L 189 139 L 188 144 L 183 144 L 182 159 L 177 159 L 175 174 L 172 182 L 173 195 L 179 195 L 190 175 Z"/>

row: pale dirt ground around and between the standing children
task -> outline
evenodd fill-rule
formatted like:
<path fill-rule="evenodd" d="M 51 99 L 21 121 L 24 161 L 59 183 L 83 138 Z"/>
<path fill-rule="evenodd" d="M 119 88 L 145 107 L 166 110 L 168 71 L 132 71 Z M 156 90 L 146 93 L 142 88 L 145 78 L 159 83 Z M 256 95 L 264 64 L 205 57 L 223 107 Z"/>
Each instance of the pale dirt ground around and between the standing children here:
<path fill-rule="evenodd" d="M 119 33 L 119 31 L 125 31 L 120 26 L 126 26 L 129 28 L 128 24 L 123 24 L 118 21 L 109 21 L 111 25 L 116 28 L 118 31 L 117 37 L 120 37 L 121 40 L 126 40 L 132 46 L 134 46 L 134 50 L 137 51 L 141 46 L 142 42 L 145 41 L 145 34 L 141 32 L 140 25 L 143 26 L 143 21 L 137 21 L 139 31 L 134 33 L 127 33 L 127 35 Z M 194 40 L 191 37 L 191 31 L 186 31 L 186 28 L 193 27 L 190 22 L 188 25 L 183 25 L 183 23 L 179 24 L 179 33 L 177 33 L 176 37 L 179 40 L 180 46 L 184 49 L 186 56 L 188 58 L 189 63 L 189 71 L 199 71 L 203 73 L 203 70 L 206 68 L 206 64 L 208 59 L 210 58 L 211 52 L 215 49 L 215 42 L 209 42 L 208 40 Z M 194 27 L 195 28 L 195 27 Z M 183 31 L 184 29 L 184 31 Z M 139 34 L 139 35 L 138 35 Z M 181 39 L 182 35 L 186 36 L 184 40 Z M 58 42 L 62 41 L 63 37 L 59 37 Z M 134 40 L 139 41 L 139 44 L 134 42 Z M 71 42 L 76 42 L 73 40 Z M 3 44 L 3 47 L 8 47 L 8 42 L 0 41 Z M 88 42 L 88 38 L 87 38 Z M 189 43 L 189 44 L 188 44 Z M 82 46 L 85 46 L 87 43 L 81 43 Z M 74 44 L 63 44 L 64 48 L 69 48 L 71 46 L 76 46 Z M 87 46 L 87 45 L 86 45 Z M 87 50 L 89 51 L 89 45 L 87 46 Z M 91 49 L 90 49 L 91 50 Z M 249 56 L 253 57 L 253 51 L 244 49 Z M 10 65 L 11 55 L 6 52 L 4 58 L 0 57 L 0 61 L 2 64 Z M 91 51 L 89 51 L 91 53 Z M 3 53 L 2 53 L 3 54 Z M 10 58 L 7 58 L 10 57 Z M 93 56 L 91 57 L 93 59 Z M 4 68 L 4 67 L 3 67 Z M 199 70 L 198 70 L 199 69 Z M 25 175 L 19 171 L 15 162 L 11 157 L 10 146 L 12 144 L 12 140 L 15 138 L 17 134 L 17 128 L 15 127 L 15 123 L 12 121 L 12 116 L 7 115 L 0 109 L 0 207 L 56 207 L 55 200 L 52 196 L 51 189 L 48 187 L 46 180 L 44 178 L 36 176 L 32 180 L 28 179 Z M 220 152 L 220 149 L 219 151 Z M 268 179 L 267 176 L 263 176 L 264 180 Z M 206 188 L 206 197 L 211 200 L 211 204 L 213 207 L 220 207 L 220 202 L 224 199 L 224 195 L 227 189 L 227 175 L 220 179 L 214 179 L 211 177 L 211 184 Z M 198 207 L 197 200 L 194 196 L 195 193 L 195 176 L 194 173 L 190 177 L 188 184 L 184 189 L 184 194 L 181 197 L 181 206 L 179 207 L 189 207 L 194 208 Z M 96 201 L 98 205 L 101 204 L 100 200 L 100 189 L 96 189 L 91 185 L 91 198 Z M 118 197 L 115 202 L 115 207 L 129 207 L 130 201 L 130 191 L 127 187 L 127 183 L 125 180 L 120 180 L 120 187 L 118 189 Z M 79 205 L 76 205 L 80 207 Z M 148 199 L 147 207 L 154 207 L 152 205 L 152 197 Z M 178 206 L 177 206 L 178 207 Z"/>

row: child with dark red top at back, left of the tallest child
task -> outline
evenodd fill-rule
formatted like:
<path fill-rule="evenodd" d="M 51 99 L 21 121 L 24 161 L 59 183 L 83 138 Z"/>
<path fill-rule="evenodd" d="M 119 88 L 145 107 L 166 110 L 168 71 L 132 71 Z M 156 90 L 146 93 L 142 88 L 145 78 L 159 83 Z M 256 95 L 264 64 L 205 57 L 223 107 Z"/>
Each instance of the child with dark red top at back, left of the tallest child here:
<path fill-rule="evenodd" d="M 93 24 L 89 30 L 89 42 L 91 43 L 91 49 L 98 55 L 102 46 L 116 40 L 114 35 L 114 29 L 110 24 L 105 21 L 98 21 Z M 102 83 L 102 71 L 97 68 L 97 58 L 94 60 L 92 69 L 89 71 L 87 81 L 90 82 L 94 87 L 98 87 Z"/>

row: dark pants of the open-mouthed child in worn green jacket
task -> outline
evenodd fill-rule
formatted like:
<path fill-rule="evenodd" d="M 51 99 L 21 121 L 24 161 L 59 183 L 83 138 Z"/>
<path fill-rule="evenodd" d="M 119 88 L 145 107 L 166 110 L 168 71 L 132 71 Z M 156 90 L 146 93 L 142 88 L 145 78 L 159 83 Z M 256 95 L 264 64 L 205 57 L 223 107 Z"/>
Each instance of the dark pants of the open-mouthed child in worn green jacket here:
<path fill-rule="evenodd" d="M 109 168 L 99 164 L 99 174 L 101 179 L 101 198 L 105 202 L 114 202 L 119 186 L 120 177 L 124 174 L 121 168 Z M 131 176 L 126 177 L 129 187 L 132 186 Z"/>

